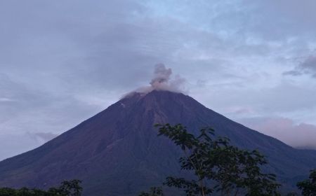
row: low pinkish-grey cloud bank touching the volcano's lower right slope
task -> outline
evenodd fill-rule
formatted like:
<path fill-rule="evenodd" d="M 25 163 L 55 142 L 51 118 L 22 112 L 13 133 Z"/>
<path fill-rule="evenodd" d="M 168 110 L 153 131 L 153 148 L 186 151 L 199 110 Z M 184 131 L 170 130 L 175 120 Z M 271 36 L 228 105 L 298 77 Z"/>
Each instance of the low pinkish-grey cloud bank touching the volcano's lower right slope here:
<path fill-rule="evenodd" d="M 316 149 L 316 126 L 294 123 L 289 118 L 244 118 L 239 123 L 275 137 L 294 148 Z"/>

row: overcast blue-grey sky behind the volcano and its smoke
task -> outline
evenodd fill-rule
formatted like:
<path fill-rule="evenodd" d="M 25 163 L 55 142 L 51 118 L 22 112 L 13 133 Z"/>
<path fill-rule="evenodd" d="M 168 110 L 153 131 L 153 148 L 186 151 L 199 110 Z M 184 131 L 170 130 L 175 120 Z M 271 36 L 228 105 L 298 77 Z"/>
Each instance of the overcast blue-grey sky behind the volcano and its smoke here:
<path fill-rule="evenodd" d="M 316 1 L 0 1 L 0 160 L 148 85 L 316 148 Z"/>

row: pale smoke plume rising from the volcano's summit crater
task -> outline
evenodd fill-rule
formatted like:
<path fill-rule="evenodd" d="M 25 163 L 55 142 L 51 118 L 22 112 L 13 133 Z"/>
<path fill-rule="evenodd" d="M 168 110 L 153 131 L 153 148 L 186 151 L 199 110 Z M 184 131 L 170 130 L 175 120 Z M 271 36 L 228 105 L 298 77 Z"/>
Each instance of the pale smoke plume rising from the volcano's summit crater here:
<path fill-rule="evenodd" d="M 162 63 L 156 64 L 154 66 L 154 76 L 150 81 L 150 86 L 148 85 L 144 87 L 139 87 L 129 94 L 133 94 L 134 92 L 147 94 L 148 92 L 152 92 L 152 90 L 166 90 L 187 94 L 185 79 L 181 78 L 178 75 L 176 75 L 174 78 L 171 78 L 171 75 L 171 68 L 166 68 L 166 66 L 164 66 L 164 64 Z M 124 95 L 124 97 L 128 96 L 129 94 Z"/>

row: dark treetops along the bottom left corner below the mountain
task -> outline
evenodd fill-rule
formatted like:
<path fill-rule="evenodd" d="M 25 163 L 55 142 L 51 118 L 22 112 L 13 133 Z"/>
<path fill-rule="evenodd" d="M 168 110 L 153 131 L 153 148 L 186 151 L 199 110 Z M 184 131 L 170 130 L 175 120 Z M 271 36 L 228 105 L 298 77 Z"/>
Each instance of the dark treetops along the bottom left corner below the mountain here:
<path fill-rule="evenodd" d="M 40 190 L 36 188 L 0 188 L 0 196 L 80 196 L 82 188 L 81 181 L 62 181 L 58 188 L 52 187 L 48 190 Z"/>

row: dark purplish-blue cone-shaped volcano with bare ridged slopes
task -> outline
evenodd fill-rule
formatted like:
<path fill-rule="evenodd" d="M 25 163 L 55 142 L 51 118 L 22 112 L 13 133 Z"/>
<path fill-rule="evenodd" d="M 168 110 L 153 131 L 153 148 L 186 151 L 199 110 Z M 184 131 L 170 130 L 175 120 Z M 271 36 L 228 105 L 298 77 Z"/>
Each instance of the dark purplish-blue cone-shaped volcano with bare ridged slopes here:
<path fill-rule="evenodd" d="M 81 179 L 84 195 L 137 195 L 177 175 L 182 155 L 155 123 L 210 126 L 240 148 L 268 157 L 269 172 L 286 188 L 316 166 L 316 151 L 291 148 L 207 109 L 181 93 L 132 93 L 77 127 L 27 153 L 0 162 L 0 187 L 48 188 Z"/>

